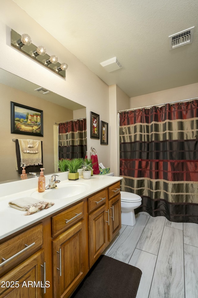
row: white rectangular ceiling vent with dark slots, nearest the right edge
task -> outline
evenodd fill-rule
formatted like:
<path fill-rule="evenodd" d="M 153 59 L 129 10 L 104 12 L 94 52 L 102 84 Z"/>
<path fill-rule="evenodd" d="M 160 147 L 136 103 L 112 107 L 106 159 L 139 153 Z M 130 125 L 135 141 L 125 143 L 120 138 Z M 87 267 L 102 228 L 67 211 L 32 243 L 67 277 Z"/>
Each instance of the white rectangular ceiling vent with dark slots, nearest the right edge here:
<path fill-rule="evenodd" d="M 194 28 L 195 26 L 170 35 L 168 37 L 170 50 L 183 46 L 184 44 L 192 43 Z"/>

